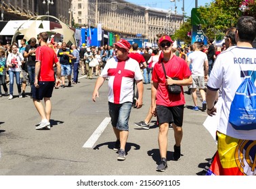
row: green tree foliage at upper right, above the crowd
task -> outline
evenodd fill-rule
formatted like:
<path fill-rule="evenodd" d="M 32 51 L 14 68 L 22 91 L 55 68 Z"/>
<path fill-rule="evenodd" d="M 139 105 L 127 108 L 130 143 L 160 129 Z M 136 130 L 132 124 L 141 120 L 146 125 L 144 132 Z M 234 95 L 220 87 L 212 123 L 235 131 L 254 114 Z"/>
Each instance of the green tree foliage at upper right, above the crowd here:
<path fill-rule="evenodd" d="M 236 26 L 240 16 L 253 16 L 256 18 L 256 0 L 249 1 L 249 10 L 242 12 L 239 7 L 243 0 L 215 0 L 205 6 L 198 7 L 196 12 L 200 14 L 200 24 L 202 30 L 208 38 L 221 38 L 226 30 Z M 190 38 L 187 33 L 192 30 L 191 20 L 182 24 L 181 28 L 173 35 L 174 39 L 179 39 L 189 43 Z"/>

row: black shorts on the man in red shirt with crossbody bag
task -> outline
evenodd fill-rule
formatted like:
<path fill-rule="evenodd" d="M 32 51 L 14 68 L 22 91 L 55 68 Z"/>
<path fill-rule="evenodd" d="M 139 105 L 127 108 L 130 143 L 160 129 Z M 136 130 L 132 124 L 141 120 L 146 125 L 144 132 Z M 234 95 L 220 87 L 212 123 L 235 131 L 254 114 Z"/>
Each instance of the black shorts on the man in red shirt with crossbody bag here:
<path fill-rule="evenodd" d="M 162 105 L 156 105 L 156 115 L 158 125 L 174 123 L 178 127 L 182 127 L 183 124 L 184 105 L 175 107 L 165 107 Z"/>

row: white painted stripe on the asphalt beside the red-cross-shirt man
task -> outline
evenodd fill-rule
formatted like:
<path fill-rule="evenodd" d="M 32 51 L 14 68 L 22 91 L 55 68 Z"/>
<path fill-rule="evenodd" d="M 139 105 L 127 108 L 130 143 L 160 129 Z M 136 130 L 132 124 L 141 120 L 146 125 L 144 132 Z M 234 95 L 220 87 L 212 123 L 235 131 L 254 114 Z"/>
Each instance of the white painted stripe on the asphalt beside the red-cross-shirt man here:
<path fill-rule="evenodd" d="M 105 119 L 102 121 L 100 126 L 91 134 L 90 138 L 83 144 L 83 148 L 92 148 L 95 142 L 100 138 L 100 135 L 102 132 L 104 132 L 106 126 L 108 126 L 108 123 L 110 122 L 110 117 L 105 117 Z"/>

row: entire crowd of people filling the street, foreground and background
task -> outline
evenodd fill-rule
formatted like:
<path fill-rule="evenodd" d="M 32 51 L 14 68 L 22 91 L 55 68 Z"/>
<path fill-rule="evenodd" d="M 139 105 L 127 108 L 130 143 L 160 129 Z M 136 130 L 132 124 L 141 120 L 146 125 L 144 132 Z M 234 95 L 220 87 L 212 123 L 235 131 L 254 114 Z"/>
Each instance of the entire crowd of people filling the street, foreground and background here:
<path fill-rule="evenodd" d="M 208 45 L 199 42 L 185 47 L 173 47 L 170 36 L 163 35 L 158 40 L 158 48 L 140 49 L 137 43 L 130 45 L 121 39 L 113 47 L 81 47 L 65 42 L 48 41 L 47 33 L 26 40 L 0 46 L 0 82 L 7 96 L 6 81 L 9 78 L 9 100 L 14 98 L 14 76 L 18 97 L 25 95 L 26 85 L 30 85 L 30 97 L 41 122 L 36 129 L 50 129 L 51 94 L 54 88 L 65 88 L 79 83 L 78 75 L 87 79 L 98 76 L 92 100 L 99 97 L 99 90 L 108 80 L 108 110 L 116 136 L 114 151 L 119 151 L 117 159 L 124 161 L 125 145 L 129 135 L 129 115 L 131 108 L 140 109 L 143 104 L 144 84 L 151 84 L 151 105 L 146 119 L 135 126 L 149 129 L 152 117 L 157 117 L 158 146 L 161 162 L 156 171 L 167 169 L 168 130 L 174 130 L 173 160 L 181 158 L 183 137 L 184 86 L 192 92 L 194 107 L 198 111 L 196 90 L 202 98 L 202 111 L 209 116 L 217 112 L 215 104 L 222 99 L 220 120 L 217 126 L 218 149 L 207 174 L 212 175 L 255 175 L 255 130 L 236 130 L 228 122 L 230 104 L 243 78 L 250 74 L 255 82 L 255 38 L 256 21 L 251 17 L 241 17 L 236 28 L 226 32 L 225 43 L 215 47 L 209 38 Z M 240 59 L 251 59 L 250 63 L 238 63 Z M 234 69 L 233 69 L 234 68 Z M 241 72 L 241 70 L 244 70 Z M 73 73 L 73 75 L 72 75 Z M 72 77 L 73 76 L 73 77 Z M 205 86 L 207 85 L 207 92 Z M 137 91 L 135 92 L 135 89 Z M 45 109 L 41 100 L 45 101 Z M 256 107 L 255 107 L 256 108 Z M 170 127 L 171 126 L 171 127 Z M 232 144 L 231 144 L 232 143 Z M 244 144 L 253 145 L 245 146 Z M 239 146 L 240 145 L 240 146 Z M 242 145 L 242 146 L 241 146 Z M 234 151 L 234 148 L 243 148 Z M 227 155 L 223 151 L 230 151 Z M 242 159 L 242 161 L 240 161 Z M 228 163 L 227 163 L 228 162 Z M 244 163 L 247 162 L 247 165 Z M 233 167 L 230 167 L 231 164 Z M 247 166 L 247 167 L 246 167 Z"/>

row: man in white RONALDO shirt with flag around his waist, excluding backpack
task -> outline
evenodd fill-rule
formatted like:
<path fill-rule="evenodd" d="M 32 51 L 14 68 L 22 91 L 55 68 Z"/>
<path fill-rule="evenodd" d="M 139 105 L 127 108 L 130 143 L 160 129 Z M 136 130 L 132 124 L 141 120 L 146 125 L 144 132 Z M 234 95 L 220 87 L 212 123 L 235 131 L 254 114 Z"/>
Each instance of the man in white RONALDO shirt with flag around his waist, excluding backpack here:
<path fill-rule="evenodd" d="M 229 123 L 230 106 L 246 76 L 256 84 L 256 20 L 242 16 L 236 26 L 237 47 L 220 53 L 207 83 L 207 114 L 214 116 L 217 90 L 222 104 L 217 126 L 217 153 L 207 175 L 256 175 L 256 130 L 236 130 Z"/>

